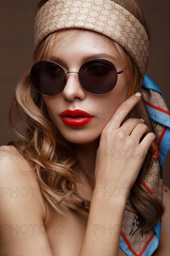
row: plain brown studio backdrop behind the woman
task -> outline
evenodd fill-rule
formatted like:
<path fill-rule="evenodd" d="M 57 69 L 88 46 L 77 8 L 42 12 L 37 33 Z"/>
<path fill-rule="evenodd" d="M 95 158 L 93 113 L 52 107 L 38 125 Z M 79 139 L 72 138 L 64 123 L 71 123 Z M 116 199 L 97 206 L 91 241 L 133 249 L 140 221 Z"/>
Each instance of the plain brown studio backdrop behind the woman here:
<path fill-rule="evenodd" d="M 0 145 L 15 140 L 7 113 L 19 77 L 32 66 L 33 10 L 38 0 L 1 0 Z M 150 29 L 147 74 L 163 92 L 170 109 L 170 1 L 138 0 Z M 163 183 L 170 187 L 170 153 L 163 164 Z"/>

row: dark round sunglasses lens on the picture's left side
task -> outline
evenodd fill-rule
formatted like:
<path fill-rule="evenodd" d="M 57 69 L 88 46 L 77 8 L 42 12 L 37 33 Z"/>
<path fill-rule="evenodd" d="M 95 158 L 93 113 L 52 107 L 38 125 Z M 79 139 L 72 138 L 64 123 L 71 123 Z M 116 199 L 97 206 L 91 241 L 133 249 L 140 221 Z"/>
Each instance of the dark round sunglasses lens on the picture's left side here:
<path fill-rule="evenodd" d="M 54 62 L 40 61 L 31 69 L 33 86 L 41 94 L 53 96 L 59 94 L 65 87 L 65 72 Z"/>

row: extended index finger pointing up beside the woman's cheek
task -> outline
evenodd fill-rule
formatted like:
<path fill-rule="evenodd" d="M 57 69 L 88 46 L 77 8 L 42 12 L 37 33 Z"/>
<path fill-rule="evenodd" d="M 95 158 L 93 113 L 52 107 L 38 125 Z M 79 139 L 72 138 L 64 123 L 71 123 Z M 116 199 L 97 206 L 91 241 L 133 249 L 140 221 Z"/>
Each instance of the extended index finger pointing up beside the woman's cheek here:
<path fill-rule="evenodd" d="M 131 110 L 141 100 L 141 93 L 133 94 L 130 98 L 124 101 L 115 111 L 111 118 L 111 122 L 107 123 L 110 128 L 119 128 L 125 117 L 131 112 Z M 106 125 L 106 126 L 107 126 Z"/>

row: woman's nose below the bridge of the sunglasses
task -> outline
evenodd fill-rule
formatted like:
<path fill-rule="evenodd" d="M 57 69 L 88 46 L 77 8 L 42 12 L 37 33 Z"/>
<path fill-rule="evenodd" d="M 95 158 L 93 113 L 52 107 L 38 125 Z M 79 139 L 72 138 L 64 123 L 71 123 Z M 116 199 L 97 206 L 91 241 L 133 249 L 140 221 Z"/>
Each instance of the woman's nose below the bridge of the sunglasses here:
<path fill-rule="evenodd" d="M 67 101 L 73 101 L 76 98 L 80 99 L 81 101 L 84 100 L 86 91 L 80 84 L 78 72 L 67 72 L 66 80 L 66 85 L 62 94 L 63 98 Z"/>

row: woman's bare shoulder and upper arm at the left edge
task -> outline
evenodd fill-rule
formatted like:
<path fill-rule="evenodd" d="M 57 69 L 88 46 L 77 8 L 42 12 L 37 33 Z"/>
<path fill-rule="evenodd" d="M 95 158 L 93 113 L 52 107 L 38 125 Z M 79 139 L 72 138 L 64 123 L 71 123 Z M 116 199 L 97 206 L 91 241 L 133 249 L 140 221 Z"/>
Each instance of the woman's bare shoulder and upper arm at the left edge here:
<path fill-rule="evenodd" d="M 0 255 L 52 255 L 35 171 L 13 146 L 0 147 L 0 182 Z"/>

